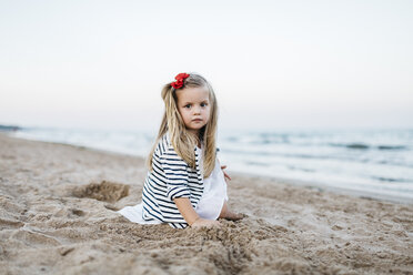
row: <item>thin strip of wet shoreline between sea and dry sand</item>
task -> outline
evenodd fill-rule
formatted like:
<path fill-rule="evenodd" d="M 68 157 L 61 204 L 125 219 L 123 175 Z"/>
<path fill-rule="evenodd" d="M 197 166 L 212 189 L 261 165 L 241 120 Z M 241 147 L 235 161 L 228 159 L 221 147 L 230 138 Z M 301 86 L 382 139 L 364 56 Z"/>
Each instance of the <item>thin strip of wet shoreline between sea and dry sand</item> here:
<path fill-rule="evenodd" d="M 70 143 L 62 143 L 62 142 L 50 142 L 50 141 L 39 141 L 39 140 L 30 140 L 30 139 L 23 139 L 23 138 L 16 138 L 16 136 L 10 136 L 8 132 L 0 132 L 0 135 L 3 134 L 8 138 L 11 139 L 19 139 L 19 140 L 24 140 L 24 141 L 33 141 L 33 142 L 41 142 L 41 143 L 50 143 L 50 144 L 57 144 L 57 145 L 67 145 L 67 146 L 72 146 L 75 149 L 81 149 L 81 150 L 88 150 L 88 151 L 95 151 L 100 152 L 103 154 L 111 154 L 111 155 L 118 155 L 118 156 L 130 156 L 130 157 L 137 157 L 140 159 L 141 161 L 145 161 L 144 157 L 140 155 L 134 155 L 134 154 L 128 154 L 128 153 L 120 153 L 115 151 L 109 151 L 109 150 L 101 150 L 101 149 L 94 149 L 94 147 L 89 147 L 89 146 L 82 146 L 82 145 L 74 145 Z M 285 177 L 276 177 L 276 176 L 270 176 L 270 175 L 258 175 L 253 173 L 246 173 L 246 172 L 230 172 L 234 176 L 241 176 L 241 177 L 246 177 L 246 179 L 259 179 L 259 180 L 264 180 L 269 182 L 273 182 L 274 184 L 288 184 L 292 186 L 302 186 L 306 189 L 313 189 L 318 190 L 321 192 L 331 192 L 334 194 L 342 194 L 342 195 L 350 195 L 353 197 L 359 197 L 359 198 L 366 198 L 366 200 L 376 200 L 376 201 L 383 201 L 383 202 L 391 202 L 391 203 L 400 203 L 400 204 L 413 204 L 413 201 L 409 197 L 402 197 L 402 196 L 396 196 L 396 195 L 390 195 L 390 194 L 379 194 L 379 193 L 373 193 L 369 191 L 356 191 L 352 189 L 345 189 L 345 187 L 339 187 L 339 186 L 331 186 L 326 185 L 323 183 L 319 183 L 315 181 L 304 181 L 304 180 L 296 180 L 296 179 L 285 179 Z"/>

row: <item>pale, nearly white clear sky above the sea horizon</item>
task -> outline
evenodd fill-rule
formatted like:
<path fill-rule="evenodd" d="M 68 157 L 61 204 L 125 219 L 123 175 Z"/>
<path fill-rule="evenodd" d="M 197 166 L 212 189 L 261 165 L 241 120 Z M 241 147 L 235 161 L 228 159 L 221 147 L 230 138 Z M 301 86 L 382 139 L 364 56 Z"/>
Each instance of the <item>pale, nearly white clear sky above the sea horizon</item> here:
<path fill-rule="evenodd" d="M 0 124 L 151 130 L 180 72 L 226 130 L 413 128 L 413 1 L 3 1 Z"/>

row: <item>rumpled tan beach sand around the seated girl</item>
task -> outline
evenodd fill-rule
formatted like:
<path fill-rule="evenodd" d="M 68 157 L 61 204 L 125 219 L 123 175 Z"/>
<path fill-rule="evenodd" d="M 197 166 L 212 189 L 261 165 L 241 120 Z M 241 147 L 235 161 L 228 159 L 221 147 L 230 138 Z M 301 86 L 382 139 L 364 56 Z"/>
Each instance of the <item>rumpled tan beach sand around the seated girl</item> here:
<path fill-rule="evenodd" d="M 139 225 L 139 157 L 0 134 L 1 274 L 413 274 L 413 205 L 232 175 L 220 228 Z"/>

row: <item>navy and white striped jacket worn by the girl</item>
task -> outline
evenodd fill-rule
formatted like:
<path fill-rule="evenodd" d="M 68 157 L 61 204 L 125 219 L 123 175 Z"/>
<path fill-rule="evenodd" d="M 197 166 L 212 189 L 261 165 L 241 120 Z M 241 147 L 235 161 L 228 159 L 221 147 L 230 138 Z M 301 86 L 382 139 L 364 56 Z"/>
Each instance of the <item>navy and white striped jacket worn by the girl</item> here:
<path fill-rule="evenodd" d="M 159 141 L 152 156 L 152 171 L 143 184 L 142 217 L 144 221 L 161 221 L 174 228 L 185 228 L 188 223 L 179 212 L 173 198 L 188 197 L 197 207 L 203 193 L 203 175 L 200 155 L 195 153 L 197 167 L 192 169 L 172 146 L 169 133 Z"/>

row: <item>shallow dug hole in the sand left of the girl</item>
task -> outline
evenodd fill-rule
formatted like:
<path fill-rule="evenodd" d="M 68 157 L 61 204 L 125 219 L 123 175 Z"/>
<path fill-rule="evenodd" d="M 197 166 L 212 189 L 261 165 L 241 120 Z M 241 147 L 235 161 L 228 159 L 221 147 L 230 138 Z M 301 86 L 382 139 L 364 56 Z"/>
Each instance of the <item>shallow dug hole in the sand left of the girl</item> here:
<path fill-rule="evenodd" d="M 114 203 L 129 194 L 129 185 L 102 181 L 85 186 L 74 187 L 73 196 L 90 197 L 98 201 Z"/>

